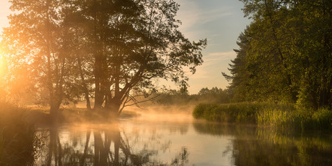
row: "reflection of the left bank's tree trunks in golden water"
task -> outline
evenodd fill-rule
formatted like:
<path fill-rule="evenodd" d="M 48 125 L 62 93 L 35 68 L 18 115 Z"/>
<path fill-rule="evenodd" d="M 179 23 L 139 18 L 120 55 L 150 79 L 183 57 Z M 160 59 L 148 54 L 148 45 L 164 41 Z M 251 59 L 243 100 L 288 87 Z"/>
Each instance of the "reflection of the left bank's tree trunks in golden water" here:
<path fill-rule="evenodd" d="M 188 163 L 189 152 L 186 148 L 171 160 L 163 163 L 151 159 L 158 149 L 143 146 L 132 150 L 126 136 L 120 131 L 117 123 L 103 129 L 87 129 L 84 138 L 71 139 L 61 136 L 58 127 L 49 129 L 48 149 L 44 165 L 184 165 Z M 67 140 L 66 140 L 67 139 Z M 139 143 L 139 142 L 137 142 Z M 149 142 L 146 142 L 148 144 Z M 169 142 L 166 142 L 166 144 Z M 161 145 L 161 147 L 167 145 Z M 138 151 L 137 151 L 138 150 Z"/>

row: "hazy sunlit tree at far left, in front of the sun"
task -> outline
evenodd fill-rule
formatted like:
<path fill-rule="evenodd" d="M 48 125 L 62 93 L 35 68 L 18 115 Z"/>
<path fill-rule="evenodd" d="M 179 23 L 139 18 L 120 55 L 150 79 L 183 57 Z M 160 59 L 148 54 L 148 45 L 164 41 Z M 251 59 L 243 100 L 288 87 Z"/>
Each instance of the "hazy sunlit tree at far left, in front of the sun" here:
<path fill-rule="evenodd" d="M 50 113 L 54 121 L 64 98 L 71 93 L 67 44 L 70 27 L 66 22 L 64 1 L 13 0 L 10 27 L 3 31 L 3 43 L 15 66 L 27 68 L 35 88 L 47 89 Z M 13 71 L 15 72 L 15 71 Z"/>

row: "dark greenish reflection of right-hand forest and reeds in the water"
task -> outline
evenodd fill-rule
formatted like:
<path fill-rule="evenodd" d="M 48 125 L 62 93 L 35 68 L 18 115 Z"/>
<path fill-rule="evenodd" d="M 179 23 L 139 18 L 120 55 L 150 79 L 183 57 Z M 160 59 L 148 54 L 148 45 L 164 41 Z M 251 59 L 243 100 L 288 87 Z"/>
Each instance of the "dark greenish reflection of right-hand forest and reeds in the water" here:
<path fill-rule="evenodd" d="M 194 123 L 198 133 L 234 136 L 234 165 L 332 165 L 332 135 L 281 133 L 272 129 Z"/>

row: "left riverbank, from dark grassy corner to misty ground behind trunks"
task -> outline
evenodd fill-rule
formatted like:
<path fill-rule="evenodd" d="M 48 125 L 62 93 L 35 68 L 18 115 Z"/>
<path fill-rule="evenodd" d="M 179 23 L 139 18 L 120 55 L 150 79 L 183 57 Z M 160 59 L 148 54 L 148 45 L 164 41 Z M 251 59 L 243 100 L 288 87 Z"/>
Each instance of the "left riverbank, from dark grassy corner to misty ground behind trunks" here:
<path fill-rule="evenodd" d="M 81 108 L 61 108 L 59 123 L 101 122 L 91 112 Z M 140 116 L 134 111 L 123 111 L 119 118 Z M 33 165 L 39 148 L 43 146 L 38 128 L 51 127 L 48 107 L 21 108 L 0 102 L 0 165 Z"/>

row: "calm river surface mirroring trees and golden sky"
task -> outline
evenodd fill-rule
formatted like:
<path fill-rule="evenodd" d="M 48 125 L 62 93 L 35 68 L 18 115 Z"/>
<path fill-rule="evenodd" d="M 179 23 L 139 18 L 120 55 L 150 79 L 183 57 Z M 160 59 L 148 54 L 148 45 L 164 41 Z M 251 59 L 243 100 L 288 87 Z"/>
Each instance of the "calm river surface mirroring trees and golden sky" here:
<path fill-rule="evenodd" d="M 67 124 L 39 134 L 36 165 L 332 165 L 331 134 L 191 120 Z"/>

